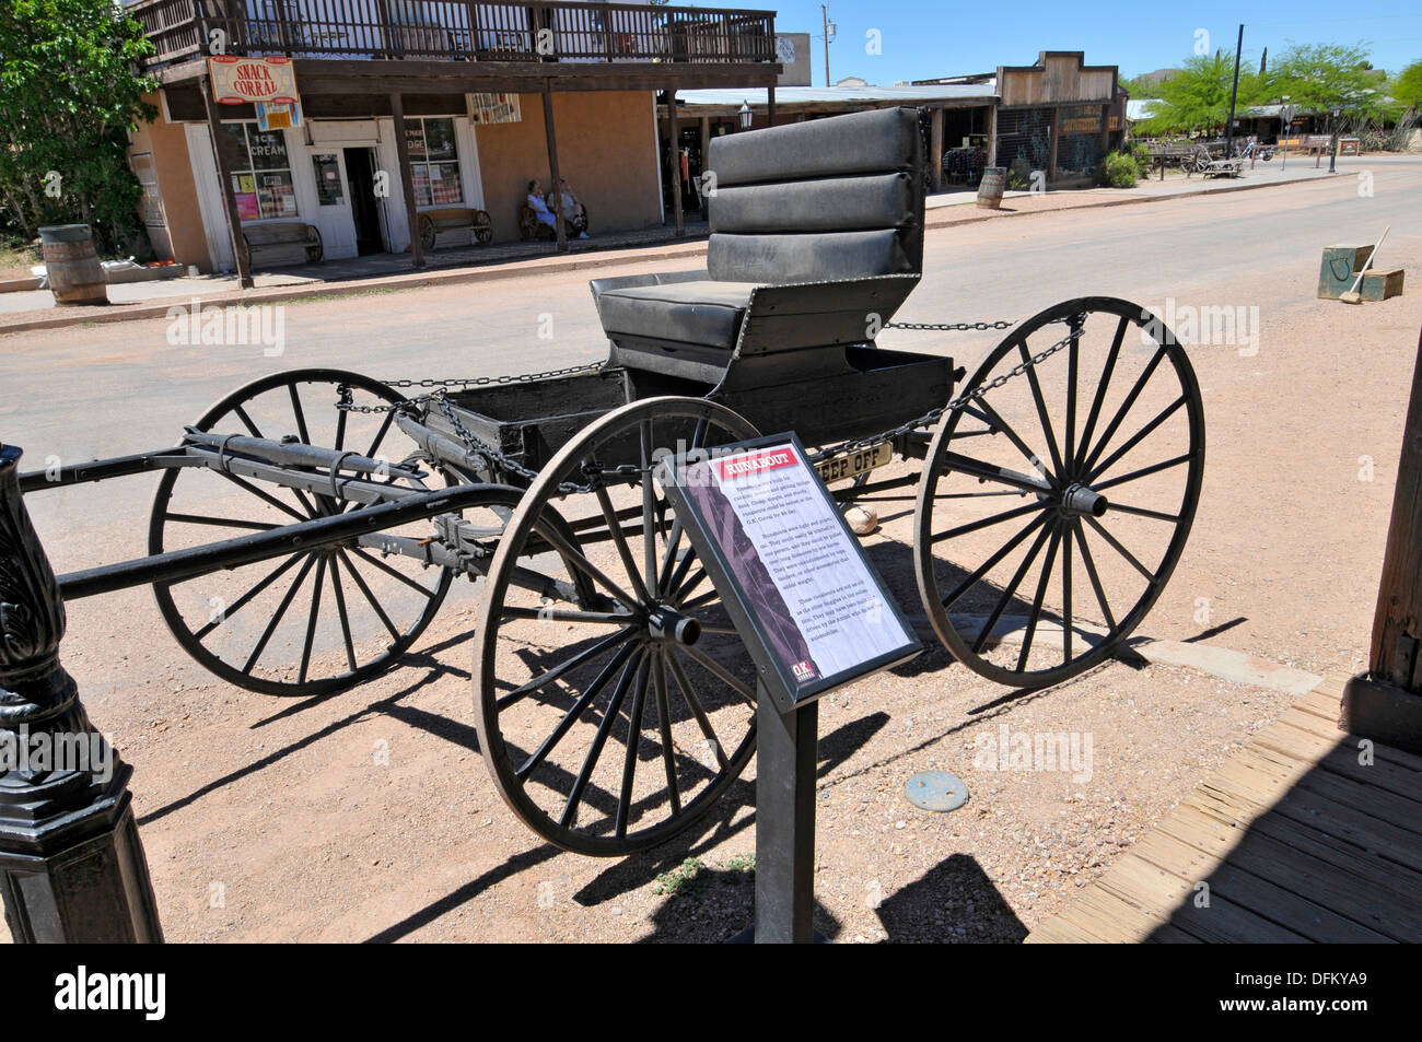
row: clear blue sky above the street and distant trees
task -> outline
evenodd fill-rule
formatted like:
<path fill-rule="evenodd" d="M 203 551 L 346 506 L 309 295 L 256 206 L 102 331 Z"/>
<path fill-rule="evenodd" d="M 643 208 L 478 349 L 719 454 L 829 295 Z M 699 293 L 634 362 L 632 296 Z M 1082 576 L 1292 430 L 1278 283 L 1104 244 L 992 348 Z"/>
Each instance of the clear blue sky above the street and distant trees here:
<path fill-rule="evenodd" d="M 673 0 L 675 3 L 675 0 Z M 728 6 L 728 4 L 720 4 Z M 737 4 L 776 10 L 779 33 L 820 36 L 818 3 Z M 829 45 L 832 80 L 863 77 L 887 85 L 897 80 L 990 72 L 1003 65 L 1030 65 L 1038 51 L 1085 51 L 1088 64 L 1119 65 L 1136 75 L 1177 65 L 1194 50 L 1194 33 L 1207 30 L 1210 50 L 1234 50 L 1244 23 L 1244 61 L 1263 47 L 1280 54 L 1290 43 L 1367 41 L 1372 64 L 1396 72 L 1422 58 L 1422 3 L 1374 0 L 1338 4 L 1325 0 L 835 0 L 829 17 L 839 36 Z M 883 53 L 866 53 L 866 33 L 876 28 Z M 811 41 L 815 84 L 825 82 L 825 45 Z"/>

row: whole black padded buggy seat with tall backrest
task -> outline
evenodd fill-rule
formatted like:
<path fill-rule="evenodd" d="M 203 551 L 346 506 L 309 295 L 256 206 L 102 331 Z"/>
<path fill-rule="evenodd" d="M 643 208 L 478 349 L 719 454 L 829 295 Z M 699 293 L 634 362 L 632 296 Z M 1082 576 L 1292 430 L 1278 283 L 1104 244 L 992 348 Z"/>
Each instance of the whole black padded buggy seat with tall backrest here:
<path fill-rule="evenodd" d="M 732 358 L 872 343 L 923 272 L 910 108 L 715 138 L 707 267 L 597 279 L 610 362 L 717 382 Z"/>

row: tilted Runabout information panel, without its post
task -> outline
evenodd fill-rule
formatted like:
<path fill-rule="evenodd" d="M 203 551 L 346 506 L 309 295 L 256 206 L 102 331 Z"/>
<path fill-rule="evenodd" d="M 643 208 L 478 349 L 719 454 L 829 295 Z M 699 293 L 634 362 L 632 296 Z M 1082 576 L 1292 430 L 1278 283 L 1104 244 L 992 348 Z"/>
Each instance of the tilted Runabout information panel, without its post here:
<path fill-rule="evenodd" d="M 923 650 L 793 434 L 663 466 L 677 517 L 782 712 Z"/>

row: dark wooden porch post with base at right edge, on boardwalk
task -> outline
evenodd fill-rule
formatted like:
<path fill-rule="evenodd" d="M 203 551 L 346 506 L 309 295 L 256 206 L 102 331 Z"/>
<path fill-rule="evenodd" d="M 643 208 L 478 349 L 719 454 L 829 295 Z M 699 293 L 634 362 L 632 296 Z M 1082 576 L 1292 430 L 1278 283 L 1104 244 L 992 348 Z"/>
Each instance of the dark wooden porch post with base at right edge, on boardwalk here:
<path fill-rule="evenodd" d="M 1368 675 L 1344 687 L 1351 735 L 1422 753 L 1422 338 L 1382 553 Z"/>

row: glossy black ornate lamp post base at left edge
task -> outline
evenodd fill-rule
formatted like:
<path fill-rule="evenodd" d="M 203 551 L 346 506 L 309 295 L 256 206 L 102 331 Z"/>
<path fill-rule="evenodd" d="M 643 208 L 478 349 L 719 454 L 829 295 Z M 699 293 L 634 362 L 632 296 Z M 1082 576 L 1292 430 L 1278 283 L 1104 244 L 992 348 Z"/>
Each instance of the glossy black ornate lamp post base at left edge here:
<path fill-rule="evenodd" d="M 0 445 L 0 896 L 20 942 L 162 941 L 124 763 L 60 665 L 64 603 Z"/>

